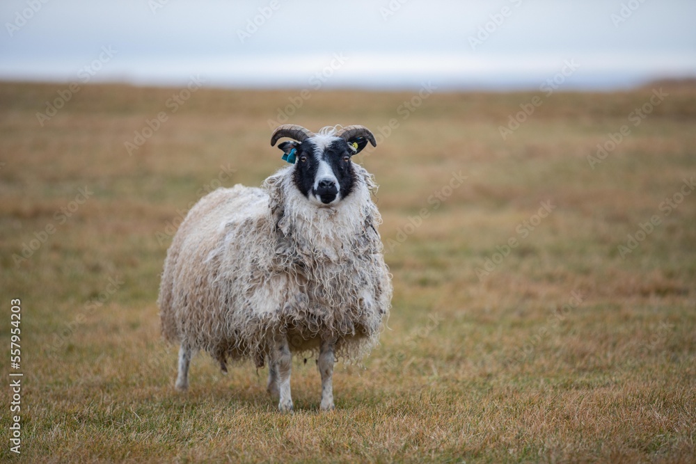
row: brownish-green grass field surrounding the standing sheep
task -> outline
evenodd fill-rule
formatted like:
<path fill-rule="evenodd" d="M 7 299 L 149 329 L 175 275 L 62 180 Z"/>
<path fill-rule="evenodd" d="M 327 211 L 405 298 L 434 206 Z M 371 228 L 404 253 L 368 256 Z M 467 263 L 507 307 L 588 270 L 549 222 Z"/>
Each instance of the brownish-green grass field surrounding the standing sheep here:
<path fill-rule="evenodd" d="M 251 363 L 223 376 L 199 354 L 175 392 L 156 299 L 191 202 L 283 166 L 269 119 L 299 91 L 86 86 L 38 118 L 67 88 L 0 84 L 6 350 L 22 307 L 0 423 L 9 438 L 21 371 L 24 462 L 696 461 L 696 88 L 290 109 L 377 135 L 357 161 L 380 184 L 395 287 L 381 345 L 335 369 L 335 412 L 318 412 L 314 361 L 294 361 L 293 415 Z"/>

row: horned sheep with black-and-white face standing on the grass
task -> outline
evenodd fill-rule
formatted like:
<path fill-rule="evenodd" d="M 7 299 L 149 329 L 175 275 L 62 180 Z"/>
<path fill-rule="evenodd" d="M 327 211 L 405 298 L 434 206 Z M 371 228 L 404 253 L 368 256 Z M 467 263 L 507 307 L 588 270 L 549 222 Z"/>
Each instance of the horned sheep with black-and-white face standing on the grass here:
<path fill-rule="evenodd" d="M 333 410 L 336 358 L 377 344 L 390 310 L 391 276 L 377 232 L 374 177 L 351 159 L 366 127 L 319 133 L 282 125 L 271 136 L 291 163 L 261 188 L 217 189 L 191 208 L 164 262 L 158 305 L 168 342 L 179 343 L 175 387 L 186 390 L 191 353 L 268 362 L 267 390 L 292 411 L 293 353 L 318 355 L 320 410 Z"/>

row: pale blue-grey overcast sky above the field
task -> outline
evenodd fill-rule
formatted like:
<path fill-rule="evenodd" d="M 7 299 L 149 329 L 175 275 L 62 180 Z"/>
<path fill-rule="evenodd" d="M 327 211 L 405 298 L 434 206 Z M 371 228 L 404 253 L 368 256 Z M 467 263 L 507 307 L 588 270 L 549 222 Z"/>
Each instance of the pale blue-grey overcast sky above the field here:
<path fill-rule="evenodd" d="M 696 76 L 694 0 L 2 0 L 0 19 L 0 79 L 516 89 L 565 72 L 565 88 L 609 90 Z"/>

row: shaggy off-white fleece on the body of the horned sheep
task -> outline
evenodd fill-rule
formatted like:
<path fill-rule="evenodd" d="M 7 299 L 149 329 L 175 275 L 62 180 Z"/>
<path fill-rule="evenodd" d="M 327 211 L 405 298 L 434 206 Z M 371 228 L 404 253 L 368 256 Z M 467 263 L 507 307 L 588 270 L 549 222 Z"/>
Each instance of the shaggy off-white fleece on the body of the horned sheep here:
<path fill-rule="evenodd" d="M 274 333 L 293 352 L 367 354 L 388 317 L 392 287 L 370 198 L 372 175 L 354 165 L 354 191 L 332 207 L 310 203 L 293 166 L 262 188 L 236 185 L 189 211 L 168 250 L 159 293 L 164 337 L 219 360 L 264 365 Z"/>

